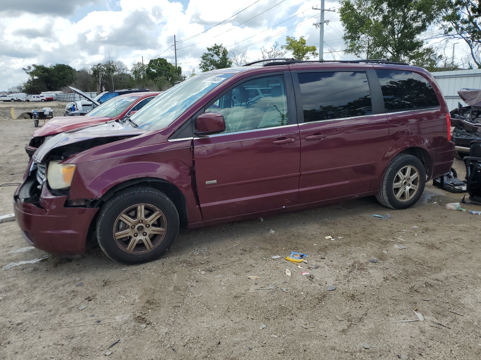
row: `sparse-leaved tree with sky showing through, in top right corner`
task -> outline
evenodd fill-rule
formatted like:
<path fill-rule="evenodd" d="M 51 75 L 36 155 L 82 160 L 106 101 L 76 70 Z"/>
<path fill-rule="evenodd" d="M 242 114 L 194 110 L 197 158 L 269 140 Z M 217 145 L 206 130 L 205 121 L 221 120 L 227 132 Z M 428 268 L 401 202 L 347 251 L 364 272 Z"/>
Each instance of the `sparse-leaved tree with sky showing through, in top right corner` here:
<path fill-rule="evenodd" d="M 445 0 L 442 13 L 444 34 L 462 38 L 476 67 L 481 69 L 481 2 Z"/>

